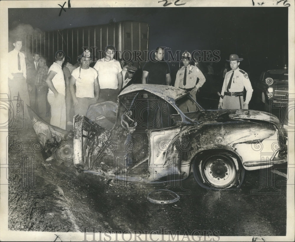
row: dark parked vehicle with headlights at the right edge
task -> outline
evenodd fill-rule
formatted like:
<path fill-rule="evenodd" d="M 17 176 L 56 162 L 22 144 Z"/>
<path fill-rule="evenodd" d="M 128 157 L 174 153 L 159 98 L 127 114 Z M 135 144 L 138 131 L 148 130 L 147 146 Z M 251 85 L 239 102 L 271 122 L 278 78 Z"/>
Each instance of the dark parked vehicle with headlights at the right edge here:
<path fill-rule="evenodd" d="M 260 74 L 254 84 L 255 98 L 264 103 L 264 111 L 279 116 L 282 123 L 288 123 L 289 85 L 288 70 L 268 70 Z"/>

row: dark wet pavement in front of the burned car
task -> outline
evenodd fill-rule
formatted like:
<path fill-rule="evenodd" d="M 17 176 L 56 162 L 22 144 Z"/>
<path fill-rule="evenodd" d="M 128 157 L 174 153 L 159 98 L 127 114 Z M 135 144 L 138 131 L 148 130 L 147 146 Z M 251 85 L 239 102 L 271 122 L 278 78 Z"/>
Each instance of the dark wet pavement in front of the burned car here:
<path fill-rule="evenodd" d="M 150 191 L 164 186 L 130 186 L 137 194 L 98 193 L 90 186 L 87 193 L 96 201 L 93 209 L 104 214 L 113 230 L 180 231 L 180 234 L 199 230 L 219 231 L 220 236 L 283 236 L 286 233 L 286 186 L 275 184 L 286 178 L 273 173 L 275 169 L 269 173 L 271 179 L 267 177 L 269 174 L 260 171 L 246 172 L 240 189 L 230 191 L 206 190 L 191 175 L 178 186 L 169 187 L 180 196 L 180 200 L 172 204 L 147 200 Z"/>

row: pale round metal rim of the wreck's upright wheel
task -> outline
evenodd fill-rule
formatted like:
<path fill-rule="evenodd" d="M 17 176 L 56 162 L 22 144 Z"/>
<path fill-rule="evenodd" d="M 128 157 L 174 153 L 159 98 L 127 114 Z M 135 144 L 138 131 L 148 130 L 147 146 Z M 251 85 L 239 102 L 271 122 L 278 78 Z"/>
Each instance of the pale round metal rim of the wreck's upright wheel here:
<path fill-rule="evenodd" d="M 222 155 L 207 158 L 201 169 L 204 179 L 213 187 L 230 187 L 234 185 L 237 177 L 232 159 Z"/>

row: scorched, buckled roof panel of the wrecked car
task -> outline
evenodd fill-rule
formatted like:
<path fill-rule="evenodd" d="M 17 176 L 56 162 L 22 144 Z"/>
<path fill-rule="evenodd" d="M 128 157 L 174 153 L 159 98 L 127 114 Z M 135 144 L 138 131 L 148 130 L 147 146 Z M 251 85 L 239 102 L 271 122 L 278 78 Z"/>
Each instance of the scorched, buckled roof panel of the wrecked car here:
<path fill-rule="evenodd" d="M 132 93 L 134 91 L 140 91 L 145 90 L 150 93 L 153 93 L 161 98 L 163 98 L 165 101 L 168 101 L 169 103 L 173 103 L 176 99 L 184 96 L 187 94 L 187 91 L 167 86 L 167 85 L 157 85 L 157 84 L 132 84 L 122 90 L 122 92 L 119 94 L 119 96 L 122 96 L 127 93 Z"/>

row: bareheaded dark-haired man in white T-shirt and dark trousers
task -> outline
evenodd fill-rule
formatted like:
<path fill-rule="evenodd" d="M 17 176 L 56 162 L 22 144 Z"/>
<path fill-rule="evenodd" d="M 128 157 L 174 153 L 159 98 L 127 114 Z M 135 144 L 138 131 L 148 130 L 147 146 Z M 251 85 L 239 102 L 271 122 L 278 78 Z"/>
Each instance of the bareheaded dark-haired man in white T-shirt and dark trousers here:
<path fill-rule="evenodd" d="M 105 57 L 99 59 L 94 65 L 100 86 L 98 103 L 106 101 L 117 103 L 117 97 L 122 90 L 122 68 L 120 62 L 114 59 L 115 52 L 116 48 L 113 45 L 106 46 Z"/>

